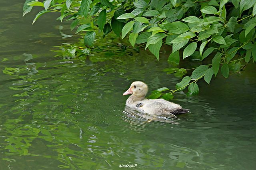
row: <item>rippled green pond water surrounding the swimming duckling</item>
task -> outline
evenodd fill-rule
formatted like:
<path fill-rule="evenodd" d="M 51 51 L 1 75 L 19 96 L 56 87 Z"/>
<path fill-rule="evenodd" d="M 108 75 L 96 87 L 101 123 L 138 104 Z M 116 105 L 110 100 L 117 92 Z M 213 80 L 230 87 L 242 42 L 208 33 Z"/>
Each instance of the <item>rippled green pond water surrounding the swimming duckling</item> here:
<path fill-rule="evenodd" d="M 159 62 L 111 47 L 60 55 L 54 46 L 76 42 L 64 39 L 74 34 L 69 23 L 49 14 L 32 26 L 37 9 L 22 18 L 23 2 L 14 1 L 0 2 L 1 170 L 255 168 L 255 71 L 199 81 L 199 95 L 172 99 L 192 113 L 149 120 L 126 112 L 122 93 L 135 80 L 174 89 L 180 78 L 162 71 L 167 53 Z"/>

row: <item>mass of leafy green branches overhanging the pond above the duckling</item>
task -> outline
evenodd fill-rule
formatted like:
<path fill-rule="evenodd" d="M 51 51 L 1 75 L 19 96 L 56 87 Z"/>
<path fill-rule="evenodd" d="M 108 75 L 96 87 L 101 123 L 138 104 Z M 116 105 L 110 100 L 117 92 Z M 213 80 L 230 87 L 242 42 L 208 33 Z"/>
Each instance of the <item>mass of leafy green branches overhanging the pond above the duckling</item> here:
<path fill-rule="evenodd" d="M 128 37 L 132 47 L 149 49 L 157 60 L 161 59 L 159 52 L 163 44 L 172 46 L 168 58 L 172 67 L 164 71 L 177 77 L 186 75 L 187 70 L 194 71 L 177 83 L 176 90 L 166 88 L 171 92 L 161 95 L 162 91 L 158 89 L 152 92 L 153 98 L 171 99 L 173 93 L 186 87 L 189 94 L 196 95 L 199 79 L 204 78 L 209 84 L 219 71 L 227 78 L 230 71 L 239 71 L 248 62 L 256 61 L 256 1 L 26 0 L 23 16 L 33 6 L 44 8 L 33 23 L 48 12 L 59 12 L 57 19 L 60 21 L 64 18 L 73 20 L 70 28 L 77 28 L 76 34 L 82 34 L 86 55 L 90 53 L 99 30 L 103 38 L 110 32 L 118 37 Z M 182 56 L 179 51 L 183 52 Z M 180 59 L 204 60 L 206 65 L 177 68 Z"/>

